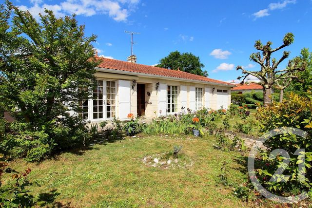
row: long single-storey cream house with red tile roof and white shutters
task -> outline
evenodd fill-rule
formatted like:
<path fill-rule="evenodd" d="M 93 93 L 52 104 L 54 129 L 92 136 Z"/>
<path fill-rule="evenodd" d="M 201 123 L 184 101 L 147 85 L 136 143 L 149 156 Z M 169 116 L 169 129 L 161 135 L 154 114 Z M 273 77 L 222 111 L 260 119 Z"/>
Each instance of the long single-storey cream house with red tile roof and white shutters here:
<path fill-rule="evenodd" d="M 181 112 L 182 108 L 227 108 L 234 85 L 186 72 L 137 64 L 135 55 L 128 62 L 101 58 L 96 67 L 96 99 L 80 102 L 85 120 L 97 122 L 114 116 L 126 120 L 128 113 L 152 119 Z"/>

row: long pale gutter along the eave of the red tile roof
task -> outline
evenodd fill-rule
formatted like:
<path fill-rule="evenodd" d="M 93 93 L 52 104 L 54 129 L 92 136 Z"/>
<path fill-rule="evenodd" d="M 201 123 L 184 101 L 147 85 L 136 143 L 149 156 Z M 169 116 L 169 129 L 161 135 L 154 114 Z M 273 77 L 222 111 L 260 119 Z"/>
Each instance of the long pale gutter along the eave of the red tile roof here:
<path fill-rule="evenodd" d="M 145 73 L 139 73 L 139 72 L 128 72 L 128 71 L 122 71 L 122 70 L 116 70 L 116 69 L 107 69 L 107 68 L 99 68 L 95 67 L 98 72 L 107 72 L 107 73 L 114 73 L 114 74 L 121 74 L 121 75 L 133 75 L 133 76 L 142 76 L 142 77 L 148 77 L 148 78 L 160 78 L 160 79 L 172 79 L 176 81 L 183 81 L 183 82 L 196 82 L 196 83 L 202 83 L 202 84 L 213 84 L 218 86 L 226 86 L 226 87 L 234 87 L 235 85 L 232 84 L 220 84 L 215 82 L 209 82 L 209 81 L 198 81 L 195 79 L 183 79 L 178 77 L 172 77 L 172 76 L 161 76 L 161 75 L 150 75 Z"/>

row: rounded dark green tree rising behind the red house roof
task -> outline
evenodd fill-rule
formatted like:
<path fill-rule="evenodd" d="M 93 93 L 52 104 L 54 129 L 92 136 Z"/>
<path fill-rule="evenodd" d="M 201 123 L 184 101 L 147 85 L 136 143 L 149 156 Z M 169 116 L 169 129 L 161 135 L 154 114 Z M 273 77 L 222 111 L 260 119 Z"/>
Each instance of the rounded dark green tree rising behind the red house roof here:
<path fill-rule="evenodd" d="M 181 70 L 182 72 L 191 73 L 199 76 L 208 76 L 207 71 L 202 71 L 205 67 L 200 62 L 199 57 L 194 56 L 192 53 L 181 54 L 178 51 L 171 52 L 167 57 L 159 60 L 159 64 L 156 67 Z"/>

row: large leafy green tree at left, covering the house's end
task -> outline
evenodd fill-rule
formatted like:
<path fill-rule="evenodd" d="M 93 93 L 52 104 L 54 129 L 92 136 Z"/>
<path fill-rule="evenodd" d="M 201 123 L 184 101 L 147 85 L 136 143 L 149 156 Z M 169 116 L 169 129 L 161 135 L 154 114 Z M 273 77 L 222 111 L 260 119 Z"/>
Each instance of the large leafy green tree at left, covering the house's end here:
<path fill-rule="evenodd" d="M 92 95 L 98 60 L 96 36 L 85 37 L 75 15 L 45 13 L 38 22 L 9 1 L 0 5 L 0 107 L 27 131 L 47 134 L 42 142 L 52 145 L 78 138 L 78 121 L 67 112 L 78 112 L 78 101 Z"/>

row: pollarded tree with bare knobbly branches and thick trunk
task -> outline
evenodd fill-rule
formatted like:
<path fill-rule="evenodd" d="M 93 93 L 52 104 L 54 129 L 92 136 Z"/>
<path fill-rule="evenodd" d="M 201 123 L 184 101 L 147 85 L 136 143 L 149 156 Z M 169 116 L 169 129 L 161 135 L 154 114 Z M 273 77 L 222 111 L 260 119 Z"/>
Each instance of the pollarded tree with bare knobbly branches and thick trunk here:
<path fill-rule="evenodd" d="M 280 81 L 284 81 L 290 78 L 296 78 L 296 73 L 298 71 L 304 71 L 305 66 L 300 57 L 296 57 L 292 60 L 289 60 L 288 66 L 285 69 L 278 70 L 278 65 L 289 57 L 290 52 L 284 51 L 283 56 L 276 61 L 275 58 L 272 58 L 272 54 L 276 51 L 281 50 L 282 48 L 289 46 L 293 42 L 293 34 L 287 33 L 283 38 L 283 44 L 277 48 L 272 49 L 272 42 L 268 41 L 266 45 L 263 45 L 261 40 L 256 40 L 254 47 L 255 49 L 261 51 L 253 53 L 250 56 L 250 60 L 258 63 L 261 67 L 260 71 L 247 71 L 242 66 L 237 66 L 236 70 L 242 70 L 243 76 L 239 76 L 238 79 L 245 78 L 248 75 L 257 77 L 260 82 L 259 84 L 263 86 L 263 97 L 264 105 L 272 102 L 271 92 L 273 86 Z M 262 56 L 261 56 L 262 55 Z"/>

